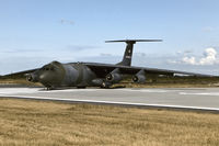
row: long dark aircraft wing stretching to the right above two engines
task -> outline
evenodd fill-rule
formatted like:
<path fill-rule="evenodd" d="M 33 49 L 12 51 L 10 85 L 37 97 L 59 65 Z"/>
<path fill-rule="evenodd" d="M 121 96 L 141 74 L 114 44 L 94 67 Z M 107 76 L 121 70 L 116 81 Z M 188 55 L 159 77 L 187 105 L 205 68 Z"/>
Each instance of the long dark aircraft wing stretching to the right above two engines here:
<path fill-rule="evenodd" d="M 204 75 L 196 72 L 187 72 L 180 70 L 166 70 L 159 68 L 148 68 L 148 67 L 136 67 L 136 66 L 120 66 L 120 65 L 110 65 L 110 64 L 95 64 L 95 63 L 84 63 L 91 68 L 100 78 L 104 78 L 107 74 L 113 71 L 115 68 L 119 68 L 120 74 L 125 75 L 136 75 L 140 70 L 145 70 L 148 75 L 185 75 L 185 76 L 196 76 L 196 77 L 214 77 L 212 75 Z"/>

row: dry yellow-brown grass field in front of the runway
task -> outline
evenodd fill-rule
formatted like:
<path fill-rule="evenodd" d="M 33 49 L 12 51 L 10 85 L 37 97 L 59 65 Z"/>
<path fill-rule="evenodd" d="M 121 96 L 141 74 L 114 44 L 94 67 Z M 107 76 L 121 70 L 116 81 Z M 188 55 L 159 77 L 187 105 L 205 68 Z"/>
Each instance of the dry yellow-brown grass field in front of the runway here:
<path fill-rule="evenodd" d="M 0 99 L 0 145 L 218 146 L 219 114 Z"/>

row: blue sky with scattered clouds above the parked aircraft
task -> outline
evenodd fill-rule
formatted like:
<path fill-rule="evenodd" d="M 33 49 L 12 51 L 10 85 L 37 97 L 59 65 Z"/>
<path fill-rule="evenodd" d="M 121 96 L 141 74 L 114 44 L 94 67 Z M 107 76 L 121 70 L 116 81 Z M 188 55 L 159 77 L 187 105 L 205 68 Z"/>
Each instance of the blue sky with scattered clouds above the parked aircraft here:
<path fill-rule="evenodd" d="M 0 75 L 53 60 L 132 65 L 219 75 L 218 0 L 0 0 Z"/>

